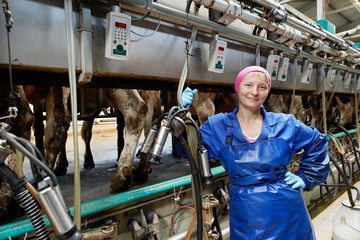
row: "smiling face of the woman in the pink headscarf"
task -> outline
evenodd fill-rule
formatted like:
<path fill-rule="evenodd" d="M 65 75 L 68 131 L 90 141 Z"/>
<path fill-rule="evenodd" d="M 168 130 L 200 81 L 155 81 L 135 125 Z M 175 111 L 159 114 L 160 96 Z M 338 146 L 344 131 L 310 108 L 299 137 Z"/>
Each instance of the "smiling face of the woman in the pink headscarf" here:
<path fill-rule="evenodd" d="M 261 72 L 250 72 L 241 80 L 238 97 L 239 107 L 250 111 L 259 110 L 269 92 L 269 81 Z"/>

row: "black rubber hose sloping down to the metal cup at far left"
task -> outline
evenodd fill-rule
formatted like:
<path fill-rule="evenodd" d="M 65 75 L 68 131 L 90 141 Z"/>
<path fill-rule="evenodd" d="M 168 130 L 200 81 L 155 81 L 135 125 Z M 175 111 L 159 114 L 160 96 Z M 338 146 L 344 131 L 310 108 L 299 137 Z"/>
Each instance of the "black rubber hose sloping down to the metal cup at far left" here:
<path fill-rule="evenodd" d="M 30 161 L 35 163 L 36 166 L 38 166 L 39 168 L 44 170 L 48 174 L 48 176 L 51 178 L 51 181 L 52 181 L 54 187 L 56 187 L 58 185 L 58 180 L 57 180 L 55 174 L 43 162 L 41 162 L 34 155 L 32 155 L 28 150 L 26 150 L 26 148 L 24 148 L 15 139 L 10 137 L 5 130 L 0 131 L 0 136 L 2 136 L 7 141 L 8 144 L 10 144 L 14 148 L 16 148 L 20 152 L 22 152 Z"/>

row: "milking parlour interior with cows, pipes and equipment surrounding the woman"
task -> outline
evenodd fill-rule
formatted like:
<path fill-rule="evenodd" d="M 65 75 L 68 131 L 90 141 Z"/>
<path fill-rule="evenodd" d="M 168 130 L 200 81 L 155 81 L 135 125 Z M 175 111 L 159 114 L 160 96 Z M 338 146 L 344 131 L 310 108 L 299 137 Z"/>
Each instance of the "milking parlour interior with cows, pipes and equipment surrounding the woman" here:
<path fill-rule="evenodd" d="M 316 238 L 360 238 L 358 0 L 2 6 L 0 239 L 230 239 L 229 179 L 198 132 L 251 65 L 267 111 L 328 138 L 329 175 L 302 192 Z"/>

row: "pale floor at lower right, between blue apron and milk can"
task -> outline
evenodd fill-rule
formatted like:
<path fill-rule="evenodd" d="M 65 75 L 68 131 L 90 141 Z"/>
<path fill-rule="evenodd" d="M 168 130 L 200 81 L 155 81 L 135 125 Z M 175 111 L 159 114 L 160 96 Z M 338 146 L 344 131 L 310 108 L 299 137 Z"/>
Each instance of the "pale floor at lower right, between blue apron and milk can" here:
<path fill-rule="evenodd" d="M 360 189 L 360 181 L 358 181 L 354 186 Z M 353 193 L 353 197 L 355 197 L 356 196 L 355 190 L 353 190 L 352 193 Z M 333 218 L 335 214 L 340 210 L 342 206 L 342 202 L 347 199 L 348 199 L 348 195 L 345 192 L 336 201 L 334 201 L 330 206 L 328 206 L 325 210 L 323 210 L 319 215 L 317 215 L 312 220 L 317 240 L 332 239 Z M 360 212 L 358 219 L 360 220 Z"/>

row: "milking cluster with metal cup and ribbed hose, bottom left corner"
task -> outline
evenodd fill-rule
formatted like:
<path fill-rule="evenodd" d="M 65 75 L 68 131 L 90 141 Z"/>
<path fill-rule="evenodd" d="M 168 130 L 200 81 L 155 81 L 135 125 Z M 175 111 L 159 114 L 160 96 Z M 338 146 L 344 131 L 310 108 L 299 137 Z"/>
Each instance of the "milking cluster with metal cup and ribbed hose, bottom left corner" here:
<path fill-rule="evenodd" d="M 67 211 L 57 178 L 44 164 L 40 151 L 30 141 L 9 134 L 8 127 L 0 123 L 0 179 L 10 184 L 36 236 L 38 239 L 50 239 L 41 215 L 43 210 L 59 239 L 81 239 L 82 234 Z M 15 173 L 4 163 L 11 153 L 16 153 Z M 34 183 L 30 183 L 22 171 L 24 156 L 30 160 Z"/>

